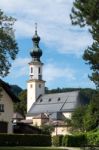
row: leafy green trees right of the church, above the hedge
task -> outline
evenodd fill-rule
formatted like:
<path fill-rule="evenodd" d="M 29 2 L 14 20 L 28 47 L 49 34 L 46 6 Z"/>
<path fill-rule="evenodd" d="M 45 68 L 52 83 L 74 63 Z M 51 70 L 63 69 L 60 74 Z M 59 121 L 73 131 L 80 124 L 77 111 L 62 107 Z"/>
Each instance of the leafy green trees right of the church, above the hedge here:
<path fill-rule="evenodd" d="M 81 106 L 72 113 L 73 131 L 91 131 L 99 126 L 99 92 L 91 96 L 89 105 Z"/>

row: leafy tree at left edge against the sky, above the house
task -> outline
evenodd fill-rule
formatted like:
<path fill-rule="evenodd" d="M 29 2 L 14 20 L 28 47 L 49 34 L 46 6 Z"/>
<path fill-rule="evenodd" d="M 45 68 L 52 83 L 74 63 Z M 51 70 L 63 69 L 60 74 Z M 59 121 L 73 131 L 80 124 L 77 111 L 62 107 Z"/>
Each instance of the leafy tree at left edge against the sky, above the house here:
<path fill-rule="evenodd" d="M 13 25 L 16 20 L 8 17 L 0 9 L 0 76 L 9 73 L 11 60 L 16 58 L 18 46 L 14 36 Z"/>

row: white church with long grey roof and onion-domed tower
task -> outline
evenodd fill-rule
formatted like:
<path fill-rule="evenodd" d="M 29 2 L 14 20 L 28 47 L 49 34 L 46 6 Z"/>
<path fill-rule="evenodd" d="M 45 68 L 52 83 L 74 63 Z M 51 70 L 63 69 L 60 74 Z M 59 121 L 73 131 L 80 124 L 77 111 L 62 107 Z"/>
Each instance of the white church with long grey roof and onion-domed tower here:
<path fill-rule="evenodd" d="M 29 62 L 29 80 L 27 82 L 27 120 L 32 120 L 35 126 L 52 124 L 57 127 L 57 134 L 66 134 L 66 124 L 64 120 L 71 118 L 75 108 L 85 105 L 86 102 L 80 96 L 79 91 L 64 93 L 45 93 L 45 81 L 43 80 L 43 54 L 39 47 L 40 37 L 35 27 L 35 34 L 32 38 L 33 49 L 30 52 L 31 62 Z M 59 131 L 58 131 L 59 128 Z M 56 133 L 56 131 L 55 131 Z"/>

